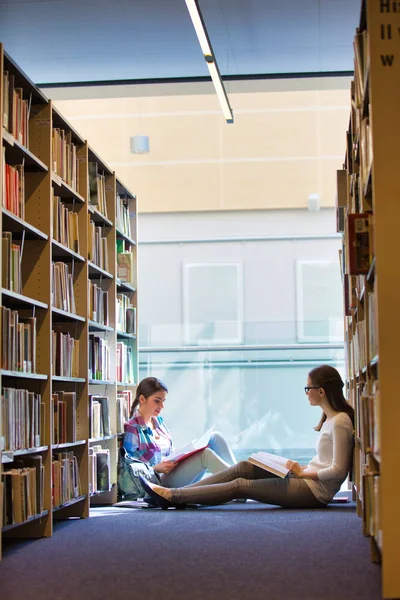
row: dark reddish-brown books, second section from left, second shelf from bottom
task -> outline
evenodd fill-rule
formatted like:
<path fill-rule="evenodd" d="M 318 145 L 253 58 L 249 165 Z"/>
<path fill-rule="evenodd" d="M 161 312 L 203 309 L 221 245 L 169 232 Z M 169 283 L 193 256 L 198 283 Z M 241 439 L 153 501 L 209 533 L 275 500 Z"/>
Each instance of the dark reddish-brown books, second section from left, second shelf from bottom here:
<path fill-rule="evenodd" d="M 76 393 L 58 391 L 51 395 L 53 405 L 52 443 L 76 442 Z"/>

